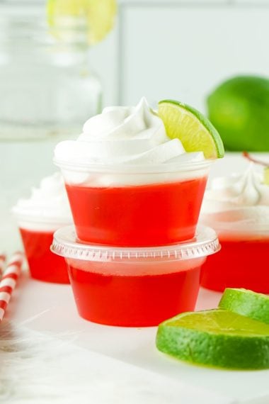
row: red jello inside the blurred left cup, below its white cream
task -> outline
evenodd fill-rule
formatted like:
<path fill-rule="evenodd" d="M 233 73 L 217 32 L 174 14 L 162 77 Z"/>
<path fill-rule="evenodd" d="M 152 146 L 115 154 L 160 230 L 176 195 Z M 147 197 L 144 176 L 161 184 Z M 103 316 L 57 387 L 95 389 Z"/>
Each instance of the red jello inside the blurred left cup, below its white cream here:
<path fill-rule="evenodd" d="M 36 231 L 20 228 L 30 275 L 39 281 L 69 284 L 64 258 L 50 251 L 54 231 Z"/>

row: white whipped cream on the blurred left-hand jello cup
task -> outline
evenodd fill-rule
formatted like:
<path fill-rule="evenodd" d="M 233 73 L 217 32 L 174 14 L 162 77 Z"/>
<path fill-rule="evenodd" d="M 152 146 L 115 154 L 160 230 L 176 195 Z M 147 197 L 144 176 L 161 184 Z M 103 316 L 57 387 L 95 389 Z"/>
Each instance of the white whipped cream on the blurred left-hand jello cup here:
<path fill-rule="evenodd" d="M 32 223 L 25 225 L 27 228 L 33 227 L 34 222 L 37 227 L 40 226 L 38 223 L 47 223 L 47 227 L 55 225 L 55 229 L 57 224 L 71 224 L 71 210 L 62 175 L 57 172 L 42 179 L 40 186 L 31 190 L 30 198 L 19 199 L 12 211 L 19 223 Z"/>

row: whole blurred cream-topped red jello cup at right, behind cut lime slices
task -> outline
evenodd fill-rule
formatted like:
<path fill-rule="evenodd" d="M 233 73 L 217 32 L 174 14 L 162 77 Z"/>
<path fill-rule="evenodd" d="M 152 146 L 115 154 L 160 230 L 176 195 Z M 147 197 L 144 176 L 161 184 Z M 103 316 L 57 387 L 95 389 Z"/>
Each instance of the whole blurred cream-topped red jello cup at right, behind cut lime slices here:
<path fill-rule="evenodd" d="M 269 293 L 269 186 L 253 163 L 244 174 L 212 180 L 200 221 L 217 231 L 222 246 L 202 266 L 201 285 Z"/>

